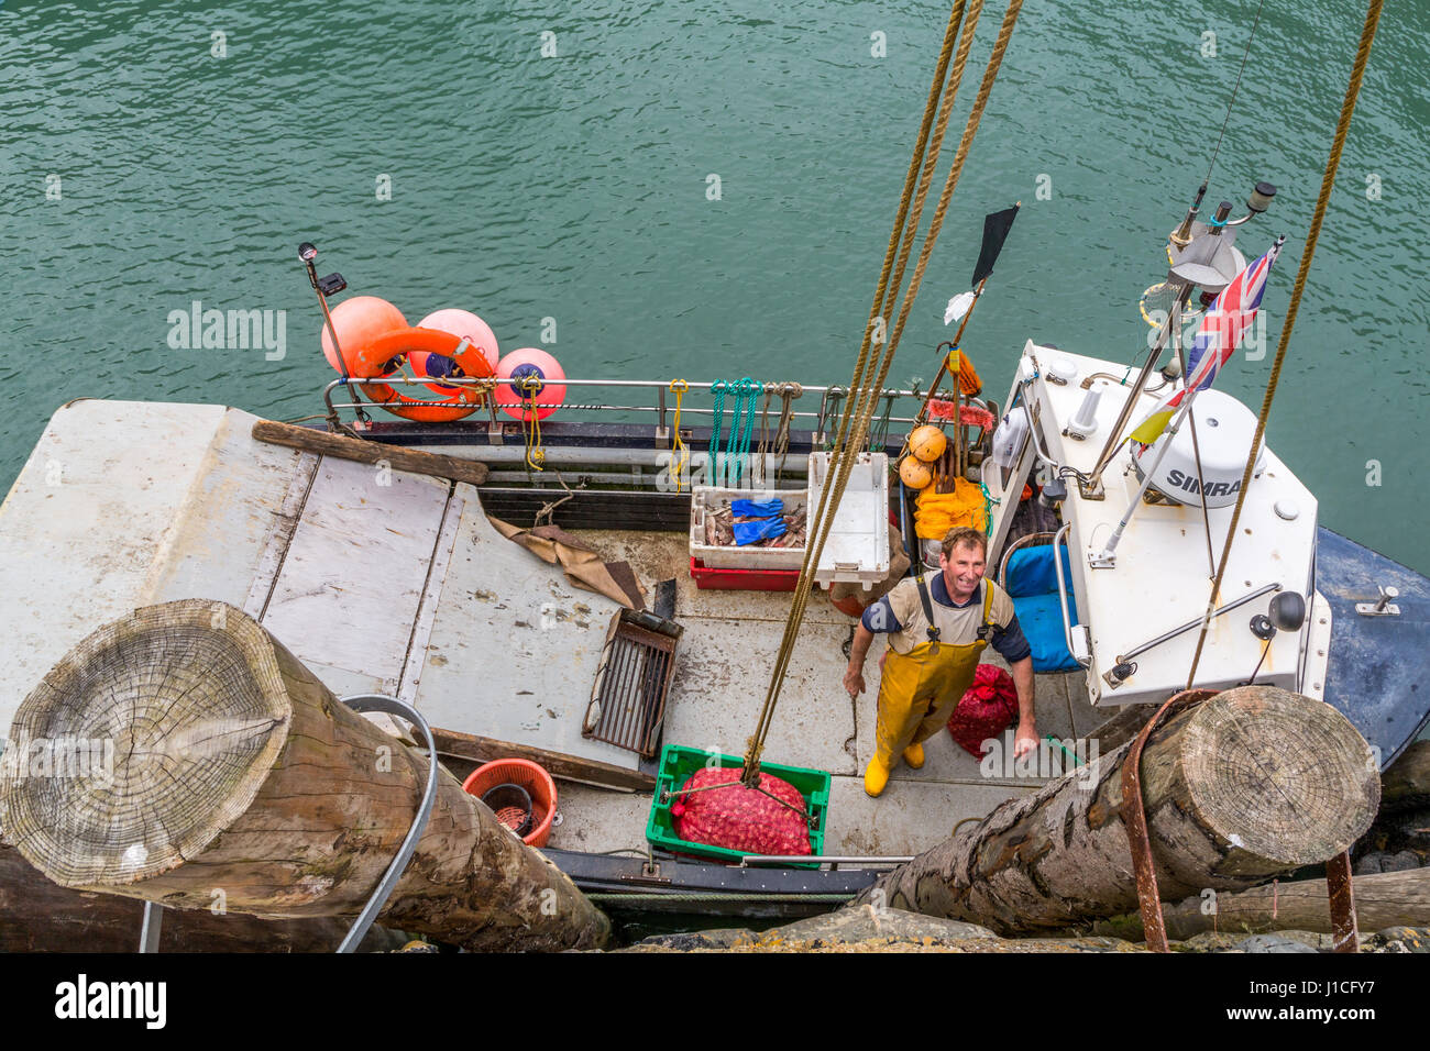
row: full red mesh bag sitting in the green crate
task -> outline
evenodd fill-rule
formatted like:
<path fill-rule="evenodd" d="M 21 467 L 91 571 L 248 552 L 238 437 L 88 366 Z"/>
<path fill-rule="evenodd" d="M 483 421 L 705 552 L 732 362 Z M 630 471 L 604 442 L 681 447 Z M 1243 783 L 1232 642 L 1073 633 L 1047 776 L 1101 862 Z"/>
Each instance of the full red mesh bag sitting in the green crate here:
<path fill-rule="evenodd" d="M 701 768 L 681 791 L 738 782 L 739 774 L 739 768 Z M 789 806 L 741 784 L 678 795 L 671 804 L 675 834 L 692 844 L 745 854 L 812 854 L 809 821 L 805 818 L 799 789 L 764 772 L 759 775 L 759 786 Z"/>

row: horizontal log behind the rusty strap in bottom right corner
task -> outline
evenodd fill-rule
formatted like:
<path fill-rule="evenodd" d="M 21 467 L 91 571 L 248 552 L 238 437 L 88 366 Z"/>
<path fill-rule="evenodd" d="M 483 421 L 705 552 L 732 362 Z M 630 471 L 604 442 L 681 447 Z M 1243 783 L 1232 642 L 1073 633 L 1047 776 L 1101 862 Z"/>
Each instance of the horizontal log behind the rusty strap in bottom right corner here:
<path fill-rule="evenodd" d="M 1356 918 L 1361 932 L 1387 927 L 1430 927 L 1430 868 L 1407 872 L 1376 872 L 1351 879 Z M 1190 938 L 1203 931 L 1221 934 L 1260 934 L 1263 931 L 1331 932 L 1330 905 L 1324 879 L 1297 879 L 1291 884 L 1254 887 L 1236 894 L 1207 894 L 1164 905 L 1168 938 Z M 1141 915 L 1104 919 L 1093 925 L 1095 934 L 1140 941 Z"/>

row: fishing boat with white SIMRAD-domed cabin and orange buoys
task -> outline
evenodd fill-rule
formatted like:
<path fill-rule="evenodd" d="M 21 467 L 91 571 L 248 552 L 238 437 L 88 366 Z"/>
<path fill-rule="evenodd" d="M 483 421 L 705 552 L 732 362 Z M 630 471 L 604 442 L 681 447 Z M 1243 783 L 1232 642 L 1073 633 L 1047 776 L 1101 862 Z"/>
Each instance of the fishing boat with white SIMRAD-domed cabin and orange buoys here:
<path fill-rule="evenodd" d="M 319 276 L 305 243 L 313 352 L 329 340 L 339 373 L 286 429 L 305 433 L 277 442 L 265 420 L 213 405 L 84 399 L 54 413 L 0 508 L 0 579 L 43 596 L 0 642 L 0 725 L 94 625 L 174 599 L 227 603 L 335 694 L 420 712 L 455 772 L 502 756 L 543 765 L 561 782 L 546 855 L 603 908 L 639 917 L 828 909 L 1095 759 L 1190 686 L 1324 699 L 1389 765 L 1430 719 L 1417 692 L 1430 581 L 1321 526 L 1314 493 L 1264 446 L 1264 413 L 1203 385 L 1207 352 L 1183 336 L 1197 297 L 1214 313 L 1248 270 L 1246 224 L 1274 193 L 1257 183 L 1240 219 L 1224 204 L 1198 220 L 1201 194 L 1168 216 L 1165 265 L 1151 262 L 1170 310 L 1140 366 L 1041 335 L 981 349 L 985 370 L 1012 362 L 1001 402 L 960 393 L 958 360 L 951 392 L 882 378 L 858 390 L 784 375 L 566 376 L 535 347 L 505 362 L 489 330 L 436 322 L 340 339 L 333 317 L 353 297 L 330 305 L 346 282 Z M 428 333 L 420 346 L 412 332 Z M 746 495 L 812 522 L 855 396 L 875 406 L 871 433 L 844 449 L 865 483 L 825 529 L 858 553 L 807 559 L 819 586 L 782 642 L 804 545 L 712 552 L 704 516 Z M 930 415 L 940 399 L 952 415 Z M 1158 412 L 1164 429 L 1130 440 Z M 854 618 L 831 599 L 837 583 L 857 599 L 887 583 L 899 548 L 914 571 L 937 566 L 918 493 L 897 475 L 908 433 L 931 422 L 985 498 L 990 575 L 1042 582 L 1012 593 L 1045 643 L 1047 746 L 1018 764 L 1011 741 L 980 759 L 938 738 L 922 769 L 871 799 L 859 775 L 875 702 L 842 688 Z M 325 450 L 327 436 L 378 452 L 359 462 Z M 405 466 L 403 452 L 480 465 L 480 480 Z M 592 563 L 633 588 L 592 591 Z M 716 861 L 672 847 L 658 828 L 668 746 L 739 756 L 776 661 L 764 751 L 827 775 L 821 848 Z"/>

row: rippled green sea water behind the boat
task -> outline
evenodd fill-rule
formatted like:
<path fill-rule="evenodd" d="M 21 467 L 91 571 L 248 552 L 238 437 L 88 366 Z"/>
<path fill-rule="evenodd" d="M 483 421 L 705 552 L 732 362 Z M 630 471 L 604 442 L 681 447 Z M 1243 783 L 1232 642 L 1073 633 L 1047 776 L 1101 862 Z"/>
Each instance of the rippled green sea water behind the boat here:
<path fill-rule="evenodd" d="M 945 163 L 1001 16 L 984 14 Z M 965 337 L 990 392 L 1027 337 L 1134 359 L 1137 299 L 1254 16 L 1025 3 L 894 380 L 932 375 L 982 216 L 1014 200 Z M 1267 6 L 1213 172 L 1208 203 L 1238 213 L 1254 180 L 1280 187 L 1241 240 L 1288 237 L 1268 350 L 1363 16 Z M 845 382 L 947 17 L 908 0 L 6 0 L 0 482 L 72 398 L 317 412 L 333 373 L 300 240 L 410 322 L 462 306 L 511 349 L 553 319 L 571 376 Z M 1323 523 L 1421 571 L 1427 30 L 1424 0 L 1387 6 L 1270 428 Z M 173 346 L 196 300 L 275 312 L 282 357 Z M 1257 406 L 1268 370 L 1238 357 L 1218 386 Z"/>

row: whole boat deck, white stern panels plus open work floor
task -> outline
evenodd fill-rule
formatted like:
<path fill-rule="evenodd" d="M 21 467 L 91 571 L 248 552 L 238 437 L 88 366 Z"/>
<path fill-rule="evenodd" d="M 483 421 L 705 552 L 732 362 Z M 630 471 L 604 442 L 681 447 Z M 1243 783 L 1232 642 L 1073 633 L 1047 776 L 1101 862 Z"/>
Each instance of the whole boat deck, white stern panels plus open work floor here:
<path fill-rule="evenodd" d="M 396 695 L 445 731 L 638 774 L 633 752 L 581 736 L 613 601 L 502 536 L 473 486 L 265 445 L 255 419 L 97 400 L 54 415 L 0 508 L 0 585 L 29 596 L 0 643 L 0 726 L 97 625 L 206 598 L 256 618 L 339 696 Z M 789 596 L 696 589 L 684 533 L 582 536 L 628 561 L 652 595 L 676 581 L 685 633 L 664 739 L 742 754 Z M 912 854 L 1042 784 L 984 776 L 940 735 L 924 769 L 901 768 L 881 799 L 865 796 L 877 653 L 871 692 L 851 701 L 841 652 L 851 623 L 815 596 L 765 749 L 834 775 L 828 852 Z M 1037 712 L 1040 732 L 1061 739 L 1103 722 L 1081 673 L 1040 676 Z M 645 849 L 649 794 L 566 781 L 559 792 L 552 847 Z"/>

